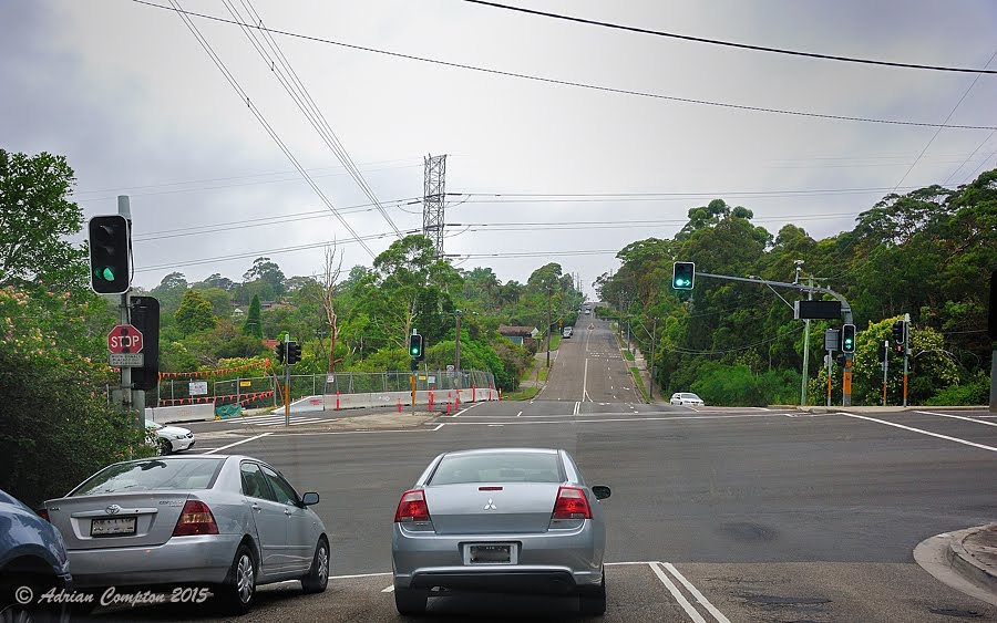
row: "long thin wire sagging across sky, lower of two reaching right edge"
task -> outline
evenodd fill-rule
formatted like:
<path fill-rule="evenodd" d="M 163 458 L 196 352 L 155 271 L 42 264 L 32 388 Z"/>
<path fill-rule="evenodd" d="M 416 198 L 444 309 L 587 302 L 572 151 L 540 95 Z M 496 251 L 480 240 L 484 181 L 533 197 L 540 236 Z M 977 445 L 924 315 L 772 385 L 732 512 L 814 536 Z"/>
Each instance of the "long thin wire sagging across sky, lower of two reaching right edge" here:
<path fill-rule="evenodd" d="M 236 25 L 238 25 L 238 22 L 235 22 L 235 21 L 232 21 L 232 20 L 227 20 L 227 19 L 225 19 L 225 18 L 219 18 L 219 17 L 217 17 L 217 15 L 209 15 L 209 14 L 206 14 L 206 13 L 198 13 L 198 12 L 195 12 L 195 11 L 186 11 L 186 10 L 183 10 L 183 9 L 177 9 L 177 8 L 172 8 L 172 7 L 165 7 L 165 6 L 163 6 L 163 4 L 157 4 L 157 3 L 155 3 L 155 2 L 150 2 L 148 0 L 132 0 L 132 1 L 133 1 L 133 2 L 136 2 L 136 3 L 138 3 L 138 4 L 144 4 L 144 6 L 147 6 L 147 7 L 155 7 L 155 8 L 157 8 L 157 9 L 163 9 L 163 10 L 167 10 L 167 11 L 183 12 L 183 13 L 185 13 L 185 14 L 187 14 L 187 15 L 193 15 L 193 17 L 196 17 L 196 18 L 205 19 L 205 20 L 212 20 L 212 21 L 216 21 L 216 22 L 229 23 L 229 24 L 236 24 Z M 436 64 L 436 65 L 441 65 L 441 66 L 446 66 L 446 68 L 454 68 L 454 69 L 461 69 L 461 70 L 474 71 L 474 72 L 486 73 L 486 74 L 492 74 L 492 75 L 502 75 L 502 76 L 506 76 L 506 77 L 515 77 L 515 79 L 520 79 L 520 80 L 528 80 L 528 81 L 533 81 L 533 82 L 543 82 L 543 83 L 547 83 L 547 84 L 557 84 L 557 85 L 561 85 L 561 86 L 572 86 L 572 87 L 575 87 L 575 89 L 586 89 L 586 90 L 589 90 L 589 91 L 598 91 L 598 92 L 603 92 L 603 93 L 615 93 L 615 94 L 618 94 L 618 95 L 633 95 L 633 96 L 636 96 L 636 97 L 649 97 L 649 98 L 652 98 L 652 100 L 664 100 L 664 101 L 669 101 L 669 102 L 679 102 L 679 103 L 683 103 L 683 104 L 696 104 L 696 105 L 701 105 L 701 106 L 715 106 L 715 107 L 720 107 L 720 108 L 730 108 L 730 110 L 737 110 L 737 111 L 748 111 L 748 112 L 754 112 L 754 113 L 769 113 L 769 114 L 778 114 L 778 115 L 791 115 L 791 116 L 801 116 L 801 117 L 809 117 L 809 118 L 823 118 L 823 120 L 832 120 L 832 121 L 850 121 L 850 122 L 860 122 L 860 123 L 878 123 L 878 124 L 905 125 L 905 126 L 914 126 L 914 127 L 950 127 L 950 128 L 954 128 L 954 129 L 997 129 L 997 126 L 990 126 L 990 125 L 942 125 L 942 124 L 926 123 L 926 122 L 913 122 L 913 121 L 902 121 L 902 120 L 884 120 L 884 118 L 859 117 L 859 116 L 849 116 L 849 115 L 832 115 L 832 114 L 823 114 L 823 113 L 811 113 L 811 112 L 805 112 L 805 111 L 793 111 L 793 110 L 788 110 L 788 108 L 769 108 L 769 107 L 764 107 L 764 106 L 750 106 L 750 105 L 744 105 L 744 104 L 732 104 L 732 103 L 729 103 L 729 102 L 715 102 L 715 101 L 710 101 L 710 100 L 698 100 L 698 98 L 692 98 L 692 97 L 679 97 L 679 96 L 674 96 L 674 95 L 665 95 L 665 94 L 660 94 L 660 93 L 650 93 L 650 92 L 647 92 L 647 91 L 635 91 L 635 90 L 629 90 L 629 89 L 616 89 L 616 87 L 613 87 L 613 86 L 602 86 L 602 85 L 596 85 L 596 84 L 587 84 L 587 83 L 584 83 L 584 82 L 575 82 L 575 81 L 569 81 L 569 80 L 559 80 L 559 79 L 544 77 L 544 76 L 532 75 L 532 74 L 525 74 L 525 73 L 508 72 L 508 71 L 495 70 L 495 69 L 491 69 L 491 68 L 483 68 L 483 66 L 477 66 L 477 65 L 469 65 L 469 64 L 465 64 L 465 63 L 454 63 L 454 62 L 450 62 L 450 61 L 441 61 L 441 60 L 439 60 L 439 59 L 430 59 L 430 58 L 426 58 L 426 56 L 417 56 L 417 55 L 413 55 L 413 54 L 403 54 L 403 53 L 400 53 L 400 52 L 390 52 L 390 51 L 387 51 L 387 50 L 378 50 L 377 48 L 368 48 L 368 46 L 363 46 L 363 45 L 354 45 L 354 44 L 352 44 L 352 43 L 342 43 L 342 42 L 340 42 L 340 41 L 335 41 L 335 40 L 331 40 L 331 39 L 323 39 L 323 38 L 320 38 L 320 37 L 312 37 L 312 35 L 308 35 L 308 34 L 301 34 L 301 33 L 297 33 L 297 32 L 289 32 L 289 31 L 285 31 L 285 30 L 277 30 L 277 29 L 264 28 L 264 27 L 258 27 L 258 25 L 254 25 L 254 24 L 245 24 L 245 25 L 246 25 L 247 28 L 255 28 L 255 29 L 259 29 L 259 30 L 266 30 L 267 32 L 269 32 L 269 33 L 271 33 L 271 34 L 280 34 L 280 35 L 284 35 L 284 37 L 292 37 L 292 38 L 296 38 L 296 39 L 302 39 L 302 40 L 306 40 L 306 41 L 312 41 L 312 42 L 317 42 L 317 43 L 327 43 L 327 44 L 329 44 L 329 45 L 338 45 L 338 46 L 340 46 L 340 48 L 347 48 L 347 49 L 350 49 L 350 50 L 359 50 L 359 51 L 362 51 L 362 52 L 371 52 L 371 53 L 374 53 L 374 54 L 382 54 L 382 55 L 386 55 L 386 56 L 393 56 L 393 58 L 397 58 L 397 59 L 405 59 L 405 60 L 409 60 L 409 61 L 419 61 L 419 62 L 422 62 L 422 63 L 432 63 L 432 64 Z"/>

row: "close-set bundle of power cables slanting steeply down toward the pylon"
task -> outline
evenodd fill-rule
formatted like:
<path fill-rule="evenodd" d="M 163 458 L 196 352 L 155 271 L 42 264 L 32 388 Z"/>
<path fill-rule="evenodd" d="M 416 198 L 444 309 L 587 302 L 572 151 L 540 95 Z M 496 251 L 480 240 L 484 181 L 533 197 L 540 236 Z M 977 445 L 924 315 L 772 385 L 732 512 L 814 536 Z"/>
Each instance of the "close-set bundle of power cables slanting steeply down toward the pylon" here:
<path fill-rule="evenodd" d="M 256 12 L 256 9 L 253 8 L 253 4 L 249 2 L 249 0 L 240 1 L 247 13 L 254 18 L 254 22 L 263 27 L 263 18 L 260 18 L 259 13 Z M 329 125 L 329 122 L 326 120 L 326 115 L 322 114 L 321 110 L 315 103 L 315 100 L 308 92 L 308 87 L 305 86 L 305 83 L 291 66 L 290 61 L 284 54 L 284 51 L 280 50 L 280 45 L 277 43 L 274 37 L 263 28 L 257 31 L 263 38 L 264 42 L 270 49 L 270 51 L 276 55 L 277 62 L 275 62 L 274 58 L 267 53 L 267 51 L 263 48 L 263 44 L 257 41 L 254 31 L 248 28 L 248 24 L 245 22 L 241 13 L 238 12 L 238 9 L 236 9 L 235 4 L 229 0 L 223 0 L 223 3 L 228 9 L 228 12 L 232 14 L 232 17 L 239 23 L 243 32 L 246 34 L 246 38 L 256 49 L 257 53 L 259 53 L 264 62 L 270 66 L 271 73 L 277 77 L 277 81 L 280 83 L 287 94 L 290 95 L 295 104 L 297 104 L 298 110 L 301 111 L 301 113 L 305 115 L 305 118 L 307 118 L 315 131 L 318 132 L 319 136 L 322 138 L 329 149 L 333 153 L 333 155 L 336 155 L 342 166 L 350 174 L 350 177 L 353 178 L 353 181 L 356 181 L 363 194 L 367 195 L 367 198 L 378 207 L 378 211 L 381 212 L 381 216 L 384 217 L 384 220 L 388 221 L 388 225 L 391 226 L 391 229 L 394 230 L 395 235 L 401 238 L 401 232 L 399 231 L 398 226 L 393 220 L 391 220 L 391 217 L 378 201 L 373 189 L 363 178 L 363 175 L 360 173 L 360 169 L 350 157 L 349 152 L 346 150 L 346 147 L 343 147 L 342 143 L 339 141 L 339 137 L 336 136 L 336 132 L 332 131 L 332 126 Z M 284 73 L 284 75 L 281 75 L 281 72 Z"/>

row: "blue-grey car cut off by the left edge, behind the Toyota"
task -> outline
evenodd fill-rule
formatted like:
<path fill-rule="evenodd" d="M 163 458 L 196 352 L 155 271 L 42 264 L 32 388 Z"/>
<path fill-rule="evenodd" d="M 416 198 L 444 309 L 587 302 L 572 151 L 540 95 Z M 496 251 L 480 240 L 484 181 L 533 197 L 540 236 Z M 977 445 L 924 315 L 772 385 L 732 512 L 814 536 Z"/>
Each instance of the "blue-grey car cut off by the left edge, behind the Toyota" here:
<path fill-rule="evenodd" d="M 33 606 L 18 602 L 16 592 L 21 586 L 33 592 Z M 37 611 L 37 599 L 49 589 L 73 589 L 62 534 L 0 490 L 0 621 L 48 621 L 50 617 L 41 617 Z M 47 614 L 52 620 L 60 617 L 58 609 Z"/>

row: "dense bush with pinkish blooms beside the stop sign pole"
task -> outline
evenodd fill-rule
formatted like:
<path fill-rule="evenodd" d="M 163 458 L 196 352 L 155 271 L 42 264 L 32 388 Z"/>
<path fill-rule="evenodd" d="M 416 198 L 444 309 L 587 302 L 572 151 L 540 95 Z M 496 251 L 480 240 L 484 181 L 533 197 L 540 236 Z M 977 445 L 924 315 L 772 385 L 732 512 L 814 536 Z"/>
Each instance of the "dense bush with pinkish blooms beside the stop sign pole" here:
<path fill-rule="evenodd" d="M 0 289 L 0 488 L 29 505 L 131 451 L 154 451 L 133 416 L 107 406 L 116 375 L 97 360 L 106 344 L 88 324 L 104 312 L 86 290 Z"/>

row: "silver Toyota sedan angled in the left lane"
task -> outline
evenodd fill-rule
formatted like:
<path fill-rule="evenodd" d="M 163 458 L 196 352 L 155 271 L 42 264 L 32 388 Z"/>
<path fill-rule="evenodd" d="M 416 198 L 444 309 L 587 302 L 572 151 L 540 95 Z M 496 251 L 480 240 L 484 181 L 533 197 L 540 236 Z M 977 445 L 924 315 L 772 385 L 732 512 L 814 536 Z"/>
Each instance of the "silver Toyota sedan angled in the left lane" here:
<path fill-rule="evenodd" d="M 199 585 L 232 613 L 256 586 L 300 580 L 326 590 L 329 539 L 271 466 L 248 456 L 171 456 L 105 467 L 45 501 L 81 589 Z"/>

